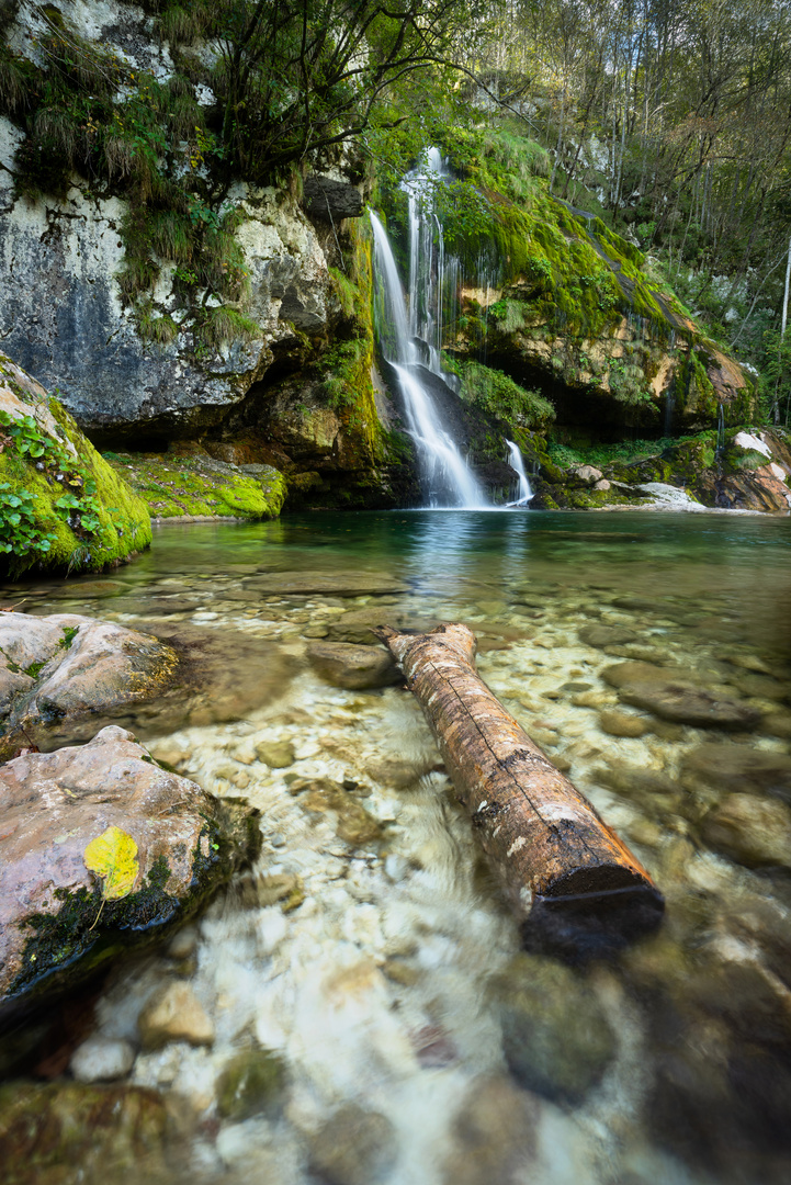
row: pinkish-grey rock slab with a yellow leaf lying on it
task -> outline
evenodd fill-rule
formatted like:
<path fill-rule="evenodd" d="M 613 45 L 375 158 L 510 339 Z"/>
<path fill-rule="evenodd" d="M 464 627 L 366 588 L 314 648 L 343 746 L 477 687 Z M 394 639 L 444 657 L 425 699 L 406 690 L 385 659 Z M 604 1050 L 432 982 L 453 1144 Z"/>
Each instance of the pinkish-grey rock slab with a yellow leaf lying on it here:
<path fill-rule="evenodd" d="M 104 901 L 85 848 L 109 827 L 136 853 L 127 895 Z M 253 811 L 162 769 L 114 725 L 1 766 L 0 1008 L 182 922 L 258 843 Z"/>

